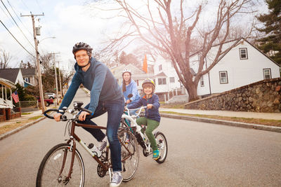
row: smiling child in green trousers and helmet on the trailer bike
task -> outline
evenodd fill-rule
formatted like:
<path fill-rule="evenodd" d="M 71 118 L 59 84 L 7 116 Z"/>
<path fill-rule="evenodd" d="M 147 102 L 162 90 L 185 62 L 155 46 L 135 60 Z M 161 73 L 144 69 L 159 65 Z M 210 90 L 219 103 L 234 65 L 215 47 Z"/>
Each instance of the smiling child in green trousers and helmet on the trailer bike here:
<path fill-rule="evenodd" d="M 138 125 L 145 125 L 147 126 L 146 130 L 143 128 L 141 132 L 148 136 L 150 140 L 150 144 L 153 150 L 153 159 L 157 160 L 159 158 L 159 150 L 157 148 L 157 144 L 155 141 L 155 137 L 152 134 L 152 131 L 155 130 L 160 123 L 160 114 L 159 114 L 159 97 L 155 95 L 155 83 L 150 79 L 145 79 L 142 84 L 143 92 L 145 95 L 138 99 L 136 102 L 131 104 L 130 106 L 126 106 L 128 109 L 136 109 L 140 106 L 147 106 L 145 109 L 145 117 L 137 118 L 136 123 Z"/>

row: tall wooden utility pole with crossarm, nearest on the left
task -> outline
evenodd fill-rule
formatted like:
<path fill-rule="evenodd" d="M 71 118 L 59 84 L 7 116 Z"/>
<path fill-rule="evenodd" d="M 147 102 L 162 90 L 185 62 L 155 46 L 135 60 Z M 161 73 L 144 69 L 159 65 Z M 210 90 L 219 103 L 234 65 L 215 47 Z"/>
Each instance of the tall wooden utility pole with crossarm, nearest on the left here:
<path fill-rule="evenodd" d="M 44 14 L 41 14 L 44 15 Z M 36 29 L 35 29 L 35 22 L 34 16 L 41 16 L 41 15 L 34 15 L 30 12 L 30 15 L 20 15 L 20 16 L 31 16 L 32 18 L 32 26 L 33 26 L 33 36 L 34 36 L 34 44 L 35 44 L 35 53 L 36 53 L 36 64 L 37 64 L 37 71 L 38 71 L 38 81 L 39 81 L 39 92 L 40 92 L 40 100 L 41 100 L 41 107 L 42 113 L 45 111 L 45 104 L 44 104 L 44 94 L 43 94 L 43 87 L 42 87 L 42 79 L 41 79 L 41 69 L 39 63 L 39 52 L 38 52 L 38 43 L 36 38 Z"/>

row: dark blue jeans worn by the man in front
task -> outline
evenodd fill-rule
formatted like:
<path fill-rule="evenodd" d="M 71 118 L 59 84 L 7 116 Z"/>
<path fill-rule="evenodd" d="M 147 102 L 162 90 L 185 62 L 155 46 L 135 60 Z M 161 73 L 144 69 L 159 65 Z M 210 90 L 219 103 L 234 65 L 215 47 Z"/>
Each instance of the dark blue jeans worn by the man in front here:
<path fill-rule="evenodd" d="M 90 104 L 87 104 L 84 108 L 89 109 Z M 118 139 L 118 128 L 124 111 L 124 99 L 118 99 L 115 101 L 100 101 L 96 108 L 93 116 L 86 118 L 84 121 L 79 121 L 79 123 L 96 125 L 91 118 L 96 118 L 103 113 L 107 112 L 107 130 L 106 135 L 110 143 L 110 153 L 112 159 L 112 170 L 113 172 L 122 171 L 121 164 L 121 146 Z M 91 129 L 84 127 L 84 130 L 90 132 L 93 137 L 98 141 L 102 141 L 105 137 L 105 134 L 99 129 Z"/>

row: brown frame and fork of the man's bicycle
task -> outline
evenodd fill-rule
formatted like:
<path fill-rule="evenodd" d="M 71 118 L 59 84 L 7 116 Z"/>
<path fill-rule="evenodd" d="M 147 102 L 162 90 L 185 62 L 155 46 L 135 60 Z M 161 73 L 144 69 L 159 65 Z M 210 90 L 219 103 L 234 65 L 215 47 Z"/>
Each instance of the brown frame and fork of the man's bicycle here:
<path fill-rule="evenodd" d="M 99 165 L 101 165 L 101 167 L 103 167 L 103 169 L 105 169 L 105 171 L 108 170 L 108 173 L 110 175 L 110 179 L 111 179 L 111 172 L 110 172 L 110 168 L 112 167 L 112 165 L 105 165 L 103 162 L 100 161 L 100 159 L 91 152 L 91 150 L 86 146 L 86 144 L 84 144 L 84 141 L 82 141 L 77 134 L 75 134 L 75 127 L 87 127 L 87 128 L 92 128 L 92 129 L 100 129 L 100 130 L 106 130 L 107 127 L 101 127 L 101 126 L 95 126 L 95 125 L 86 125 L 86 124 L 82 124 L 82 123 L 75 123 L 72 120 L 72 124 L 71 124 L 71 130 L 70 130 L 70 139 L 67 140 L 67 144 L 70 144 L 70 151 L 72 151 L 72 159 L 71 159 L 71 164 L 70 164 L 70 171 L 67 174 L 67 180 L 71 178 L 71 174 L 72 174 L 72 167 L 73 167 L 73 162 L 74 162 L 74 155 L 75 155 L 75 150 L 76 150 L 76 141 L 79 142 L 79 144 L 93 157 L 94 160 L 96 160 L 96 162 L 98 162 Z M 118 137 L 119 139 L 119 137 Z M 120 140 L 120 139 L 119 139 Z M 124 145 L 122 142 L 120 142 L 120 144 Z M 124 146 L 124 148 L 126 148 L 126 146 Z M 108 160 L 108 150 L 109 150 L 109 146 L 106 146 L 106 160 Z M 123 158 L 121 160 L 121 162 L 124 162 L 124 160 L 130 158 L 130 155 L 132 155 L 133 153 L 131 153 L 129 151 L 128 148 L 126 148 L 126 151 L 129 152 L 129 155 L 126 158 Z M 60 174 L 63 172 L 63 169 L 65 167 L 65 159 L 66 159 L 66 154 L 67 151 L 65 151 L 65 155 L 63 158 L 63 165 L 62 168 L 60 169 Z"/>

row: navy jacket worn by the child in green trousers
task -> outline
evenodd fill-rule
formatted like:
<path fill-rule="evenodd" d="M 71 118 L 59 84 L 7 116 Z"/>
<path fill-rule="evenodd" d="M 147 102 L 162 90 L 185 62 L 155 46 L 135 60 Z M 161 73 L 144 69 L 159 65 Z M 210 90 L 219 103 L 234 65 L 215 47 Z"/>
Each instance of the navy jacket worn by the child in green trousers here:
<path fill-rule="evenodd" d="M 159 97 L 158 95 L 153 94 L 152 97 L 146 99 L 145 96 L 138 99 L 138 101 L 133 102 L 130 106 L 127 106 L 128 109 L 136 109 L 140 106 L 147 106 L 148 104 L 153 104 L 152 109 L 145 109 L 145 117 L 151 120 L 157 120 L 160 122 L 160 113 L 159 113 Z"/>

